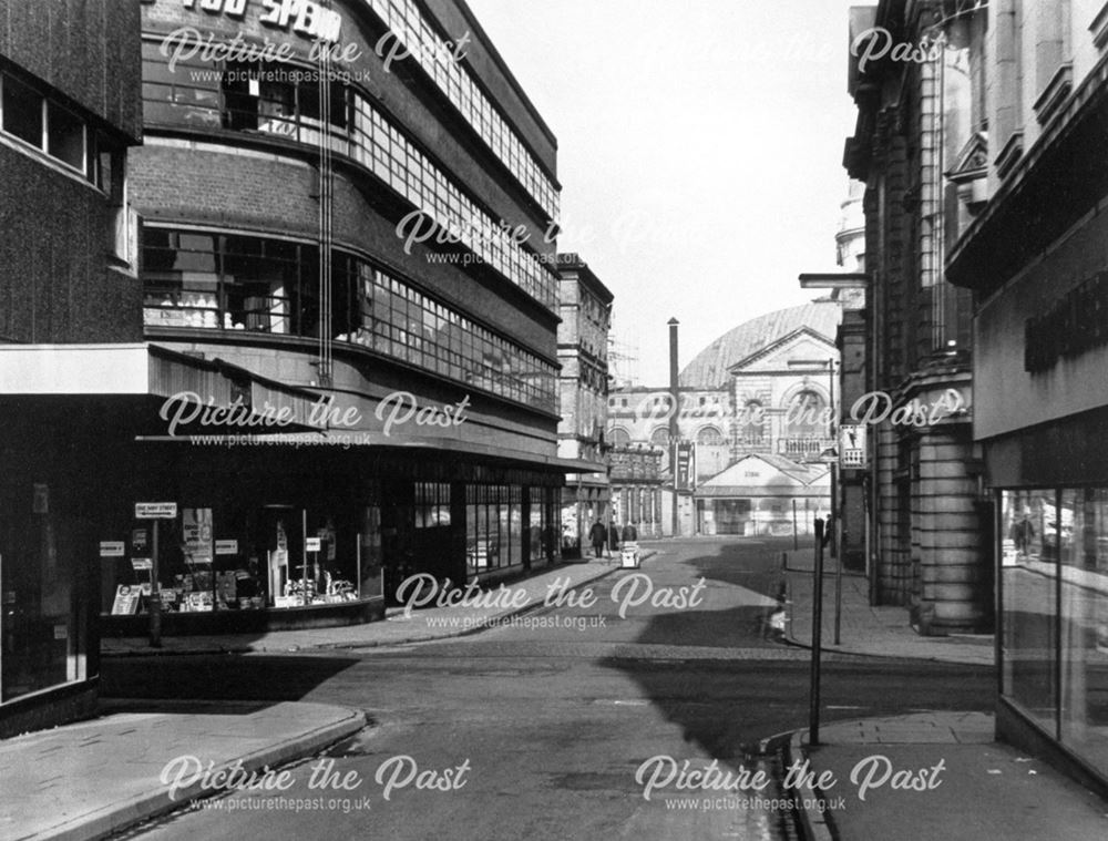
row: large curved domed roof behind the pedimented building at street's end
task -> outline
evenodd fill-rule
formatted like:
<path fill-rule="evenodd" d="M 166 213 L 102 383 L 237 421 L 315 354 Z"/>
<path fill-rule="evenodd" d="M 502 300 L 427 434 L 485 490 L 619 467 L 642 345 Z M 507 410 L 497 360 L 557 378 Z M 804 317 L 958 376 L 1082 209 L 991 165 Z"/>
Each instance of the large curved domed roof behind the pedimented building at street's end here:
<path fill-rule="evenodd" d="M 680 384 L 689 388 L 719 388 L 727 381 L 727 369 L 791 332 L 807 327 L 834 341 L 840 306 L 830 298 L 820 298 L 800 307 L 767 312 L 733 330 L 728 330 L 685 366 Z"/>

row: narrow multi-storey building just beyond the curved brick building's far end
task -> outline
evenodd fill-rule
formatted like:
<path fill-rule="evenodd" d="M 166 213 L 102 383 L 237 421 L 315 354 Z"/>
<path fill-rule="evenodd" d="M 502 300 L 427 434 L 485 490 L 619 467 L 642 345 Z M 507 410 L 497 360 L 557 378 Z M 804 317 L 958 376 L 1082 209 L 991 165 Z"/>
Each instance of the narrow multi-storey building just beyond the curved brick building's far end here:
<path fill-rule="evenodd" d="M 594 522 L 613 520 L 611 464 L 605 441 L 608 417 L 608 330 L 613 295 L 576 254 L 558 255 L 557 328 L 558 458 L 585 462 L 592 472 L 566 475 L 562 489 L 562 550 L 579 554 Z"/>

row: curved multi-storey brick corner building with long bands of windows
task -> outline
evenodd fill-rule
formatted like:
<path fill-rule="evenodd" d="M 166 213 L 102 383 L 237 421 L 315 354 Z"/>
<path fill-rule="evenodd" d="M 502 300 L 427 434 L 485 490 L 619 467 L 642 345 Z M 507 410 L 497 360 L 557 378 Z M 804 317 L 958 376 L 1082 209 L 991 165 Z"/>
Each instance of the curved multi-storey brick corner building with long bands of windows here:
<path fill-rule="evenodd" d="M 573 466 L 550 129 L 464 2 L 192 6 L 143 4 L 145 336 L 312 444 L 151 440 L 176 484 L 147 493 L 205 512 L 212 572 L 270 605 L 550 563 Z M 288 58 L 209 60 L 193 32 Z"/>

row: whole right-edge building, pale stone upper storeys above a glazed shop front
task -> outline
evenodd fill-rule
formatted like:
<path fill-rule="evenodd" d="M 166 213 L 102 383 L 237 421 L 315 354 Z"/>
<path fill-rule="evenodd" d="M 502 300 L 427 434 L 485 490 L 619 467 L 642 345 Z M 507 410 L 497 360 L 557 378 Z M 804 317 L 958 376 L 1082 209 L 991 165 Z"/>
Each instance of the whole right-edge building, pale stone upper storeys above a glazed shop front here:
<path fill-rule="evenodd" d="M 1108 794 L 1108 6 L 994 0 L 962 28 L 946 275 L 975 301 L 997 730 Z"/>

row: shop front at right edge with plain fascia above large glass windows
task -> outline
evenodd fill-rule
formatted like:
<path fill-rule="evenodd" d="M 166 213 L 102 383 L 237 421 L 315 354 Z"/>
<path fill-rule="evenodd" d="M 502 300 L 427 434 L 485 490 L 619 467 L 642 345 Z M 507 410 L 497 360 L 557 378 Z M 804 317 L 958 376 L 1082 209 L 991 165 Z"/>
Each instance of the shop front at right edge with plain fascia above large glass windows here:
<path fill-rule="evenodd" d="M 997 734 L 1108 794 L 1108 216 L 1070 202 L 1104 173 L 1104 109 L 1050 140 L 1043 160 L 1059 166 L 1030 170 L 1026 197 L 979 220 L 948 271 L 979 300 L 973 425 L 996 510 Z M 1097 168 L 1071 166 L 1081 155 Z M 1101 182 L 1081 198 L 1102 195 Z M 1074 218 L 1039 226 L 1046 205 Z M 1027 242 L 994 266 L 1027 218 Z"/>

